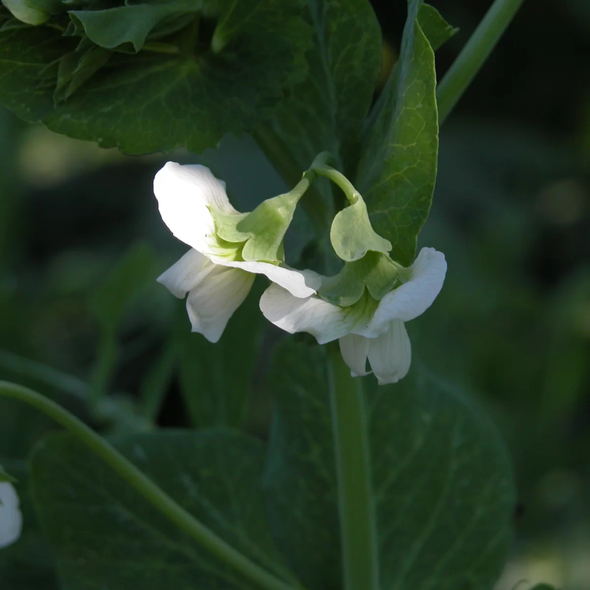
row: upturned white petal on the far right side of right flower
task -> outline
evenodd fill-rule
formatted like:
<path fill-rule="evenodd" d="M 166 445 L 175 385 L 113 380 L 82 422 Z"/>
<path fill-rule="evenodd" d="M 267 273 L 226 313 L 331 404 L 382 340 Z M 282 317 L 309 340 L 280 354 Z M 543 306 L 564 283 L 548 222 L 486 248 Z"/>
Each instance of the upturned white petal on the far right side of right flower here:
<path fill-rule="evenodd" d="M 364 336 L 375 337 L 388 329 L 391 320 L 409 322 L 424 313 L 442 289 L 447 261 L 444 254 L 434 248 L 422 248 L 418 258 L 409 267 L 410 279 L 397 289 L 386 294 L 373 319 L 362 330 Z"/>

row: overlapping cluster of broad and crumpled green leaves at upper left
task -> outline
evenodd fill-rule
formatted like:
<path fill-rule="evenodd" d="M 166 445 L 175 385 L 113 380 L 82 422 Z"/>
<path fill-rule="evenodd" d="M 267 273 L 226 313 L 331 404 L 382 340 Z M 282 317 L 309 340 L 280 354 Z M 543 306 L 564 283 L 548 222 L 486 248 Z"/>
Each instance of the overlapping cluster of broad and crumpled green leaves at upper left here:
<path fill-rule="evenodd" d="M 130 153 L 201 151 L 270 116 L 304 76 L 312 32 L 300 0 L 5 6 L 2 103 L 27 121 Z"/>

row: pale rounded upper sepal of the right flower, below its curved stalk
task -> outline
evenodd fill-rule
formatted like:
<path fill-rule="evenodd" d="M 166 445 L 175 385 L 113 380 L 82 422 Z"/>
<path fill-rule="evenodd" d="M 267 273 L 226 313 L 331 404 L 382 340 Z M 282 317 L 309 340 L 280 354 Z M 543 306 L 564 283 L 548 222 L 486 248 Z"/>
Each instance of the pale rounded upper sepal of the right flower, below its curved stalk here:
<path fill-rule="evenodd" d="M 330 241 L 336 254 L 346 262 L 360 260 L 369 251 L 387 254 L 391 250 L 391 242 L 373 231 L 360 195 L 355 203 L 336 214 L 330 228 Z"/>

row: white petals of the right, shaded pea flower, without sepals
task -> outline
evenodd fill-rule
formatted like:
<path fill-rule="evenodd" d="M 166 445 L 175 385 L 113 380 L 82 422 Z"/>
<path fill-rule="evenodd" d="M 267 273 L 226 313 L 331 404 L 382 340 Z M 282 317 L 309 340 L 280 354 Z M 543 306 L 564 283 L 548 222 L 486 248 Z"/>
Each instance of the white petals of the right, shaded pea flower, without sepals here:
<path fill-rule="evenodd" d="M 367 375 L 366 361 L 379 385 L 396 383 L 409 371 L 411 345 L 404 322 L 424 313 L 442 289 L 447 262 L 434 248 L 422 248 L 400 275 L 403 283 L 381 301 L 367 291 L 357 303 L 340 307 L 317 295 L 297 299 L 271 284 L 260 299 L 264 317 L 291 334 L 309 332 L 325 344 L 339 339 L 352 376 Z"/>

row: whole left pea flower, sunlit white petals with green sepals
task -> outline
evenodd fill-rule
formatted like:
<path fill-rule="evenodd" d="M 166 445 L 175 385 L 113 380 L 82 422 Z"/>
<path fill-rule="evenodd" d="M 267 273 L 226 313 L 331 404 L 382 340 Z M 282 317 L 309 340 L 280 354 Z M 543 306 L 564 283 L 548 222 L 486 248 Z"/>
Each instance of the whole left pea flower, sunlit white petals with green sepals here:
<path fill-rule="evenodd" d="M 256 274 L 265 274 L 295 299 L 316 293 L 317 275 L 281 261 L 284 232 L 304 188 L 242 214 L 230 204 L 225 182 L 205 166 L 168 162 L 156 174 L 153 190 L 160 215 L 173 235 L 191 246 L 158 282 L 181 299 L 188 293 L 193 332 L 217 342 Z"/>

